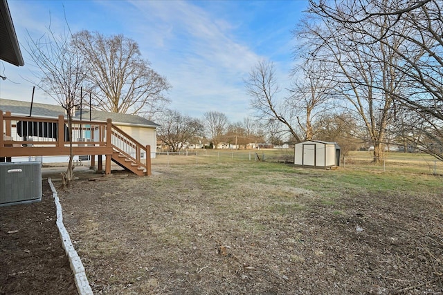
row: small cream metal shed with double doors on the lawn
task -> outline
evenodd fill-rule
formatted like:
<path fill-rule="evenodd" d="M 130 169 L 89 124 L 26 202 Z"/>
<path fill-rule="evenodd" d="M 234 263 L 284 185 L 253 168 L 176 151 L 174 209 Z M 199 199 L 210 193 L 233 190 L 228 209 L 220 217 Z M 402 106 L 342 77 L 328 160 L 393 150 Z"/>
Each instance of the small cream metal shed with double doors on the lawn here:
<path fill-rule="evenodd" d="M 296 144 L 294 164 L 316 168 L 340 166 L 340 146 L 335 142 L 307 140 Z"/>

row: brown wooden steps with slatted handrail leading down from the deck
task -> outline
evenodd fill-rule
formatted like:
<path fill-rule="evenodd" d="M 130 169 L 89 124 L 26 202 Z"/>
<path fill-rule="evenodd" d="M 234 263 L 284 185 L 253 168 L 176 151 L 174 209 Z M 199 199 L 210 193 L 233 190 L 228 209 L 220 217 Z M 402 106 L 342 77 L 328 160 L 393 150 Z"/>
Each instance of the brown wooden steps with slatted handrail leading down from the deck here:
<path fill-rule="evenodd" d="M 114 163 L 138 176 L 151 175 L 150 146 L 143 146 L 114 124 L 112 125 L 111 142 L 111 160 Z M 142 162 L 143 153 L 145 162 Z"/>

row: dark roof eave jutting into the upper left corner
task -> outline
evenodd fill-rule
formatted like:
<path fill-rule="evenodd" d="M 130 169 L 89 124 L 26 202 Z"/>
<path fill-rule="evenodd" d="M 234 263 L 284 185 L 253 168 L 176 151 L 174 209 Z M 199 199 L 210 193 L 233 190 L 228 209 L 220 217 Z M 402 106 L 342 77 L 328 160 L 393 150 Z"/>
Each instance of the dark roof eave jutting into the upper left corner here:
<path fill-rule="evenodd" d="M 15 66 L 25 64 L 6 0 L 0 0 L 0 59 Z"/>

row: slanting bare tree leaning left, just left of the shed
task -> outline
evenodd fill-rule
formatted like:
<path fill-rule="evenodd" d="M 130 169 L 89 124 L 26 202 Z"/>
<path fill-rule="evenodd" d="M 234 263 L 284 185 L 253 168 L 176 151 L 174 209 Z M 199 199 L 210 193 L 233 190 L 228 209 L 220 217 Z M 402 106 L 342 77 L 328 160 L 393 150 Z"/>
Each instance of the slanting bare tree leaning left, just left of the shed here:
<path fill-rule="evenodd" d="M 244 81 L 246 91 L 251 96 L 251 107 L 255 109 L 257 117 L 266 123 L 269 120 L 278 120 L 286 127 L 298 142 L 301 137 L 291 123 L 291 114 L 284 106 L 282 97 L 278 97 L 280 86 L 275 77 L 275 69 L 270 61 L 259 61 Z"/>

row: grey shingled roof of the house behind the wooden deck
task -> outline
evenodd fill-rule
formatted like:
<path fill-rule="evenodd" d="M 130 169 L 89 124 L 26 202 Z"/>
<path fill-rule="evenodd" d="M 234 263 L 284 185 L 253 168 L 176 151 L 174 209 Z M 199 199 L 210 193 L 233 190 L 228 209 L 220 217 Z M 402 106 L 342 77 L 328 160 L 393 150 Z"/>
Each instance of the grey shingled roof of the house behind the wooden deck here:
<path fill-rule="evenodd" d="M 12 99 L 2 99 L 0 98 L 0 110 L 1 111 L 10 111 L 15 115 L 30 115 L 30 102 L 22 102 L 19 100 Z M 89 109 L 84 109 L 82 111 L 82 120 L 89 120 Z M 65 110 L 60 105 L 53 104 L 40 104 L 33 103 L 33 111 L 31 115 L 39 116 L 39 117 L 58 117 L 59 115 L 64 115 Z M 65 115 L 66 117 L 66 115 Z M 74 120 L 80 120 L 80 111 L 75 112 Z M 156 124 L 150 120 L 147 120 L 138 115 L 128 115 L 123 113 L 108 113 L 104 111 L 96 111 L 91 110 L 91 120 L 106 122 L 107 119 L 111 119 L 114 123 L 132 125 L 132 126 L 150 126 L 150 127 L 159 127 L 159 124 Z"/>

